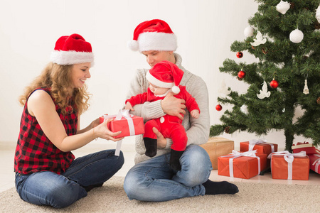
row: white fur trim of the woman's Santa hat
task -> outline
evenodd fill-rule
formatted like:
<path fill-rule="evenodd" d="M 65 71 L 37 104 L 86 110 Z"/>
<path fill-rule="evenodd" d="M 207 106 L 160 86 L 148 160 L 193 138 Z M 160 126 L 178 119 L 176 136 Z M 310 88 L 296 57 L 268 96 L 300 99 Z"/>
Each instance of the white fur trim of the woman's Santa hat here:
<path fill-rule="evenodd" d="M 50 60 L 58 65 L 75 65 L 85 62 L 93 62 L 93 53 L 77 51 L 54 50 L 50 55 Z"/>

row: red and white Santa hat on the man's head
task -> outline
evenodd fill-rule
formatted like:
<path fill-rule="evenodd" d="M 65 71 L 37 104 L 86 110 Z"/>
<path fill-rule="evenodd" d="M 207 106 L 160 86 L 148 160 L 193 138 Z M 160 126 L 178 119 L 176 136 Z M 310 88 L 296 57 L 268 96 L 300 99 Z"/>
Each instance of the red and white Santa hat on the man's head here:
<path fill-rule="evenodd" d="M 176 35 L 168 23 L 160 19 L 144 21 L 134 29 L 133 40 L 129 40 L 131 50 L 140 52 L 149 50 L 175 51 Z"/>

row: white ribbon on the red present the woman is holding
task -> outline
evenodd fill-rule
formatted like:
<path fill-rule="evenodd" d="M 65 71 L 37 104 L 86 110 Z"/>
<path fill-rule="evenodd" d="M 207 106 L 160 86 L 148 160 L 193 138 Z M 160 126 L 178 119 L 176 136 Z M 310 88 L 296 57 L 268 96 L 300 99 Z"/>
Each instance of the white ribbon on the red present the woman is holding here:
<path fill-rule="evenodd" d="M 125 119 L 127 119 L 127 122 L 128 122 L 130 136 L 134 136 L 135 131 L 134 131 L 132 116 L 133 116 L 132 114 L 129 114 L 129 109 L 119 109 L 119 112 L 117 115 L 104 115 L 103 118 L 104 120 L 106 119 L 121 120 L 122 117 L 124 117 Z M 114 155 L 119 156 L 121 144 L 122 144 L 122 140 L 117 142 L 117 148 Z"/>

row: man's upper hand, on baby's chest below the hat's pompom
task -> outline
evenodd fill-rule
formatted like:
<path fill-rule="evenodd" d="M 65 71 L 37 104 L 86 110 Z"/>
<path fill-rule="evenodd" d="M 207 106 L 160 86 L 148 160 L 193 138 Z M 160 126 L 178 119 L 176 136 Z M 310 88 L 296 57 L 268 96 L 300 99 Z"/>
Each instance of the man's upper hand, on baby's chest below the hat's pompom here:
<path fill-rule="evenodd" d="M 177 116 L 179 119 L 183 120 L 183 116 L 181 114 L 186 114 L 186 101 L 183 99 L 177 99 L 174 97 L 173 92 L 169 92 L 166 94 L 163 100 L 161 100 L 161 107 L 165 114 L 169 114 L 171 116 Z"/>

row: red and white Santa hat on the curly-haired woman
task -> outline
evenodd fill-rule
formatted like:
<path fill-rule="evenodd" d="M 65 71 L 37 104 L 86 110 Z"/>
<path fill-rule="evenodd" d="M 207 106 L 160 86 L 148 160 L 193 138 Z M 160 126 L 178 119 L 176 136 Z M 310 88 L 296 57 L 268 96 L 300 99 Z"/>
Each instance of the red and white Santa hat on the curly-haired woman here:
<path fill-rule="evenodd" d="M 55 43 L 50 60 L 58 65 L 93 62 L 91 44 L 79 34 L 61 36 Z"/>

